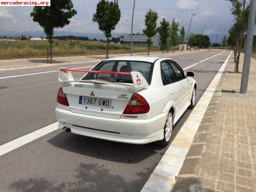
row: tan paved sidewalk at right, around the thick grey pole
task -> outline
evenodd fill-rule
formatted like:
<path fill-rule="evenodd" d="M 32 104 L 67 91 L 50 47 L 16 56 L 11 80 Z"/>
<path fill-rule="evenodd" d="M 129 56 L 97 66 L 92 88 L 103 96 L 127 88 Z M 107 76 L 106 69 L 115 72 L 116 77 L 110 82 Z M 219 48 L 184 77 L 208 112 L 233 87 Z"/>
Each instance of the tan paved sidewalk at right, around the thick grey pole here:
<path fill-rule="evenodd" d="M 173 192 L 256 191 L 256 60 L 251 61 L 248 94 L 239 93 L 242 74 L 232 73 L 233 61 L 234 56 L 214 92 Z"/>

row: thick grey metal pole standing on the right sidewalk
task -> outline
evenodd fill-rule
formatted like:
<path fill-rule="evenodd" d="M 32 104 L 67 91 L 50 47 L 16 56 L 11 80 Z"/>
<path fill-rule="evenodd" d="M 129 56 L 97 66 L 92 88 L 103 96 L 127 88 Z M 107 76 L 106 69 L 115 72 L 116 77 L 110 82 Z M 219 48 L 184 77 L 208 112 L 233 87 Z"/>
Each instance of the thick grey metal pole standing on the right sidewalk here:
<path fill-rule="evenodd" d="M 252 56 L 252 42 L 253 42 L 253 36 L 254 36 L 255 15 L 256 15 L 256 0 L 251 0 L 248 32 L 246 36 L 246 47 L 244 52 L 244 65 L 243 65 L 242 80 L 241 80 L 241 87 L 240 87 L 240 93 L 242 94 L 246 94 L 248 89 L 248 79 L 249 79 L 250 63 L 251 63 L 251 56 Z"/>

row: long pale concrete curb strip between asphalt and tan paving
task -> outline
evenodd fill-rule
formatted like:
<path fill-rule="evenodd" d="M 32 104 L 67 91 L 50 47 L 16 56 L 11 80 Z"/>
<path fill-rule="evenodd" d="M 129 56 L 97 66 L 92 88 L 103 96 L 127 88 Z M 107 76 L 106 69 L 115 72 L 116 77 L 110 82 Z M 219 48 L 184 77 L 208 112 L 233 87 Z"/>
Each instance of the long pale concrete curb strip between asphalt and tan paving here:
<path fill-rule="evenodd" d="M 226 65 L 230 59 L 230 52 L 226 61 L 220 67 L 220 70 L 213 78 L 212 82 L 196 104 L 195 108 L 188 116 L 182 128 L 175 136 L 174 140 L 166 150 L 164 156 L 156 166 L 150 178 L 142 188 L 141 192 L 170 192 L 176 182 L 180 169 L 186 158 L 190 146 L 194 140 L 194 136 L 202 122 L 202 118 L 208 108 L 214 92 L 216 91 L 218 82 L 224 72 Z"/>

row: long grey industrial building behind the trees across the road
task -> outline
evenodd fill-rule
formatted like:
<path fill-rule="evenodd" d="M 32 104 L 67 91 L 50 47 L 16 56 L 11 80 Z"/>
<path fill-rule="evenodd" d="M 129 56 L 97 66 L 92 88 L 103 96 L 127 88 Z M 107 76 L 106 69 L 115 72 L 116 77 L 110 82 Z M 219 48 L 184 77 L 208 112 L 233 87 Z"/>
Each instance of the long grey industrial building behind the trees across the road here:
<path fill-rule="evenodd" d="M 140 45 L 140 46 L 147 46 L 147 39 L 148 37 L 144 34 L 133 34 L 132 35 L 132 42 L 134 45 Z M 151 38 L 152 40 L 152 46 L 160 47 L 160 36 L 155 35 Z M 125 45 L 131 44 L 131 35 L 122 35 L 120 36 L 120 42 Z"/>

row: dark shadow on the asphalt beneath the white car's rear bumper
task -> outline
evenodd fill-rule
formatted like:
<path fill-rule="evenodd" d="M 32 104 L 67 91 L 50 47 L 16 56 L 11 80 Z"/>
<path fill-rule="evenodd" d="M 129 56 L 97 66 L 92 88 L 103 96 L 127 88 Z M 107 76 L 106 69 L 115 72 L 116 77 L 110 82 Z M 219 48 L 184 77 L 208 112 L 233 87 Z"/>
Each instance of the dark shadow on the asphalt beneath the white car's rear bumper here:
<path fill-rule="evenodd" d="M 65 131 L 48 140 L 50 144 L 63 150 L 112 162 L 135 164 L 163 150 L 155 143 L 135 145 L 118 143 Z M 167 148 L 166 148 L 167 149 Z"/>

